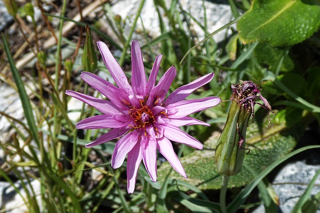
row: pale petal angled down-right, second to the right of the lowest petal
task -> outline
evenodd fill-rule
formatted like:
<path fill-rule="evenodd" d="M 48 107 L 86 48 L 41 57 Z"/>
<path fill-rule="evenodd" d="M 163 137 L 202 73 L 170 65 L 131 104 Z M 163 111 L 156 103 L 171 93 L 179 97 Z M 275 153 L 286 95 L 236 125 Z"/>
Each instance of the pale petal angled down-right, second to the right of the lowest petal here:
<path fill-rule="evenodd" d="M 180 175 L 182 175 L 184 178 L 187 178 L 184 172 L 184 169 L 181 165 L 181 162 L 179 161 L 178 157 L 174 153 L 171 142 L 165 137 L 158 139 L 157 148 L 160 151 L 160 153 L 163 155 L 163 157 L 170 163 L 171 167 L 175 171 L 177 171 Z"/>

